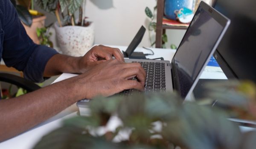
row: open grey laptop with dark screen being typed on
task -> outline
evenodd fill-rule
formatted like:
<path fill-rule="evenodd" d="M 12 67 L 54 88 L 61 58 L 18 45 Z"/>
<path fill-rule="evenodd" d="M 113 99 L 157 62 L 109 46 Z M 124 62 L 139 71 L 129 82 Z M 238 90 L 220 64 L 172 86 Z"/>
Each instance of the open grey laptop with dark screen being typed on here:
<path fill-rule="evenodd" d="M 176 91 L 189 99 L 201 73 L 226 32 L 230 20 L 203 1 L 172 58 L 167 60 L 125 59 L 126 63 L 140 63 L 147 73 L 145 92 Z M 136 78 L 134 78 L 136 79 Z M 134 89 L 120 92 L 131 95 Z M 83 103 L 78 102 L 78 106 Z"/>

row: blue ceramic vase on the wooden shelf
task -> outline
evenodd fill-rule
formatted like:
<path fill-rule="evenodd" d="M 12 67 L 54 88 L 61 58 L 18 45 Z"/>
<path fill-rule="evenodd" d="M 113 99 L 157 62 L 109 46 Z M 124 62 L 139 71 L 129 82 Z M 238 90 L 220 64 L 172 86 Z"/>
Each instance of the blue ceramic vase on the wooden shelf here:
<path fill-rule="evenodd" d="M 184 7 L 193 9 L 194 0 L 165 0 L 164 14 L 168 19 L 176 20 L 175 10 L 180 10 Z"/>

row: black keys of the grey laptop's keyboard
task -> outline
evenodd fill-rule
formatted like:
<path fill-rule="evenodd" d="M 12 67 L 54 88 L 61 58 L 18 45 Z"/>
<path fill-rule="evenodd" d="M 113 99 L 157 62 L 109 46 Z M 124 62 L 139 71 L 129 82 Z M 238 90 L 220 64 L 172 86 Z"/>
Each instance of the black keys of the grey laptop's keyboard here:
<path fill-rule="evenodd" d="M 147 77 L 145 83 L 145 92 L 165 92 L 166 78 L 165 78 L 165 63 L 160 62 L 140 62 L 133 61 L 132 63 L 140 63 L 144 68 Z M 137 80 L 135 77 L 133 80 Z M 137 89 L 127 89 L 119 93 L 119 95 L 133 95 L 134 93 L 141 93 Z"/>

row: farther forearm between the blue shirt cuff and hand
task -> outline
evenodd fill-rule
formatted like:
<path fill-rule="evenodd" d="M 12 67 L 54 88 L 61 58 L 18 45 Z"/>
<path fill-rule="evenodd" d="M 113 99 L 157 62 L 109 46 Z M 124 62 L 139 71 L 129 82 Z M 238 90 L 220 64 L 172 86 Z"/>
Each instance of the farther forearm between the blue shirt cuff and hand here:
<path fill-rule="evenodd" d="M 63 54 L 52 56 L 44 69 L 44 76 L 51 77 L 61 73 L 80 73 L 79 60 L 81 57 L 72 57 Z"/>

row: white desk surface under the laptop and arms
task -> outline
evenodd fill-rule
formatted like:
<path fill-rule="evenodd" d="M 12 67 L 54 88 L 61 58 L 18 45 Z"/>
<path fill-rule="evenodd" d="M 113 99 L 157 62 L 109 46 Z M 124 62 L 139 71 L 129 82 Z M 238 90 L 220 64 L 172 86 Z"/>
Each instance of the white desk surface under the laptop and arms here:
<path fill-rule="evenodd" d="M 119 48 L 121 50 L 126 49 L 125 46 L 112 46 Z M 147 58 L 157 58 L 163 57 L 165 60 L 172 60 L 172 57 L 175 54 L 175 50 L 173 49 L 155 49 L 151 48 L 154 51 L 154 55 L 147 56 Z M 144 52 L 150 53 L 150 51 L 145 50 L 143 48 L 137 48 L 135 51 L 137 52 Z M 214 75 L 212 75 L 214 74 Z M 215 78 L 218 75 L 218 78 L 225 79 L 225 76 L 221 72 L 209 72 L 205 71 L 202 74 L 201 78 Z M 75 74 L 62 74 L 58 77 L 55 82 L 60 80 L 67 79 L 69 77 L 73 77 Z M 213 76 L 213 77 L 212 77 Z M 3 143 L 0 143 L 0 149 L 31 149 L 44 135 L 51 132 L 53 129 L 56 129 L 61 126 L 61 121 L 65 118 L 72 117 L 77 115 L 78 108 L 76 104 L 68 107 L 64 111 L 60 112 L 58 115 L 50 118 L 49 120 L 45 121 L 44 123 L 39 124 L 34 129 L 30 129 L 27 132 L 24 132 L 21 135 L 18 135 L 12 139 L 6 140 Z M 243 127 L 241 127 L 243 129 Z M 250 130 L 250 128 L 245 128 L 244 130 Z"/>

